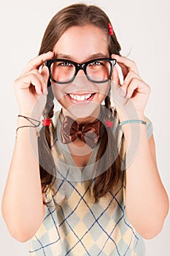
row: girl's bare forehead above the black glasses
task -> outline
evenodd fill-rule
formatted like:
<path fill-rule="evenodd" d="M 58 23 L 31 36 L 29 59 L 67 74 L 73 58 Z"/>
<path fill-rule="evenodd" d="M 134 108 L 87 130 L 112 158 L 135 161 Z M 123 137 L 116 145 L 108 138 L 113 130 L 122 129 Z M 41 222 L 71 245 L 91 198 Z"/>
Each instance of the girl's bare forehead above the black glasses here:
<path fill-rule="evenodd" d="M 72 56 L 74 61 L 88 60 L 89 56 L 109 57 L 107 34 L 96 26 L 72 26 L 54 45 L 55 56 Z"/>

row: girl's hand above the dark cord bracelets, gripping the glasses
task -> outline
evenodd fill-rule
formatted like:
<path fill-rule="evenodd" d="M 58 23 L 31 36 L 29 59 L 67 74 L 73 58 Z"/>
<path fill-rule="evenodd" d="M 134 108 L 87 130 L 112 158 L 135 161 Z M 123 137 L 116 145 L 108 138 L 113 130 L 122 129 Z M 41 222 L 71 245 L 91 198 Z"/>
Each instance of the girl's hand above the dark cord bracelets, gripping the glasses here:
<path fill-rule="evenodd" d="M 14 81 L 15 94 L 18 99 L 19 114 L 40 118 L 47 101 L 47 67 L 39 67 L 53 57 L 53 52 L 44 53 L 28 62 L 21 75 Z"/>

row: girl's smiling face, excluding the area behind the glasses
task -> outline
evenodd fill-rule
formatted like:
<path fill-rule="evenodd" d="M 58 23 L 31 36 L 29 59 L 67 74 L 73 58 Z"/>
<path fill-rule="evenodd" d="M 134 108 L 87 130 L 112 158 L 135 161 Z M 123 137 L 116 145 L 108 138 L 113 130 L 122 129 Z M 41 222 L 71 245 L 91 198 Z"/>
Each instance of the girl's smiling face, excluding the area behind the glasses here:
<path fill-rule="evenodd" d="M 66 59 L 82 64 L 85 61 L 109 58 L 107 35 L 96 26 L 72 26 L 53 48 L 55 59 Z M 66 65 L 68 69 L 68 64 Z M 64 67 L 62 67 L 64 68 Z M 78 121 L 90 121 L 99 114 L 101 102 L 107 96 L 109 83 L 93 83 L 82 69 L 72 83 L 52 82 L 53 94 L 63 107 L 63 114 Z"/>

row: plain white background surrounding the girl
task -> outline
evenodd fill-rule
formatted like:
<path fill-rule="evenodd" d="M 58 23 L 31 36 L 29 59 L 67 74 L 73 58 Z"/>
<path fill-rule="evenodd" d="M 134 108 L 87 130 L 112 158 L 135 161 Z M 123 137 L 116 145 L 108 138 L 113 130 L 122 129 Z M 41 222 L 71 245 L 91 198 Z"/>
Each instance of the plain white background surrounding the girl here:
<path fill-rule="evenodd" d="M 28 60 L 38 54 L 42 35 L 53 15 L 62 7 L 74 2 L 72 0 L 6 0 L 0 4 L 0 200 L 12 158 L 18 115 L 12 81 L 17 78 Z M 151 86 L 146 116 L 152 120 L 158 168 L 163 184 L 170 195 L 170 1 L 93 0 L 84 2 L 98 4 L 107 12 L 122 46 L 121 53 L 127 56 L 131 52 L 128 58 L 136 61 L 140 75 Z M 31 211 L 34 210 L 31 209 Z M 147 256 L 169 255 L 169 229 L 168 216 L 162 232 L 156 238 L 145 241 Z M 28 256 L 28 244 L 21 244 L 9 235 L 1 213 L 0 249 L 1 255 Z"/>

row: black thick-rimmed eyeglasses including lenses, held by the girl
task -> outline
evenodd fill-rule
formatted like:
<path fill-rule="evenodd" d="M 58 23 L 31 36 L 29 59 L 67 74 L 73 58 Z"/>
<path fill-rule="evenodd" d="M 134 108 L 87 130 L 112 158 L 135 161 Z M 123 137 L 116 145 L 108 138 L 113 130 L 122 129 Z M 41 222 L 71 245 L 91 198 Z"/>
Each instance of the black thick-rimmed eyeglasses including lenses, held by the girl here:
<path fill-rule="evenodd" d="M 115 59 L 93 59 L 78 64 L 66 59 L 50 59 L 45 65 L 50 72 L 50 79 L 55 83 L 72 83 L 80 69 L 85 72 L 86 77 L 93 83 L 106 83 L 112 76 L 112 69 L 116 64 Z"/>

